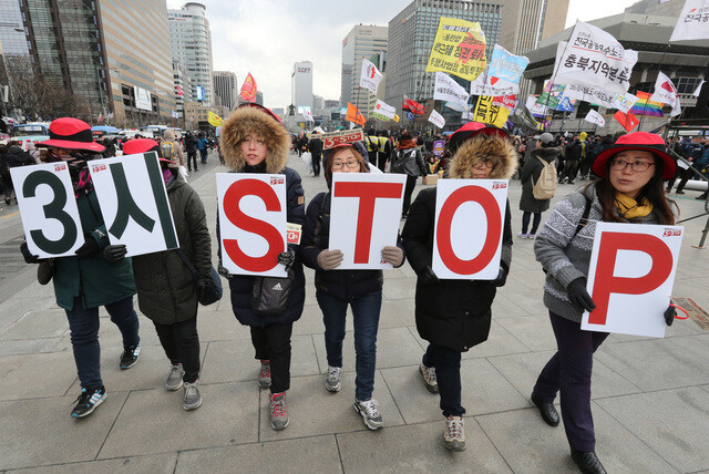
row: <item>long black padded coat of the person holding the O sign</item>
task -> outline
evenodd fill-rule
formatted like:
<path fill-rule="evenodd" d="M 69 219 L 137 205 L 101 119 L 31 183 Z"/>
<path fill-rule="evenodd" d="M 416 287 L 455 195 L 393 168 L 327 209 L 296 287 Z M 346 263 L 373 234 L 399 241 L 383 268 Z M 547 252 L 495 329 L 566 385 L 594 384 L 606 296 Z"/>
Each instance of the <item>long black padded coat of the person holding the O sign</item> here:
<path fill-rule="evenodd" d="M 417 275 L 421 275 L 433 261 L 435 196 L 435 187 L 421 190 L 411 204 L 403 228 L 403 247 Z M 512 260 L 511 223 L 507 202 L 501 260 L 501 266 L 507 269 Z M 492 281 L 441 280 L 428 286 L 417 281 L 415 318 L 419 334 L 434 346 L 461 352 L 484 342 L 490 333 L 491 306 L 496 290 Z"/>

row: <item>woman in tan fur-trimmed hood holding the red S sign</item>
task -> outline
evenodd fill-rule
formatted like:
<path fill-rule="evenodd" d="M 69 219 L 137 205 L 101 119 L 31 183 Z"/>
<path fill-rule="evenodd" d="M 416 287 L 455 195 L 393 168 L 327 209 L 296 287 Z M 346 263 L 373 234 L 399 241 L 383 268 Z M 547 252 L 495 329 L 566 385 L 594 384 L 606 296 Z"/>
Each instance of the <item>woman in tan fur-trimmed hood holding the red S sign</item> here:
<path fill-rule="evenodd" d="M 219 147 L 232 173 L 285 175 L 288 223 L 305 223 L 305 194 L 300 175 L 286 167 L 290 136 L 276 115 L 257 104 L 239 106 L 222 125 Z M 251 309 L 255 277 L 228 276 L 232 309 L 236 319 L 250 328 L 256 359 L 260 361 L 259 387 L 270 389 L 269 418 L 274 430 L 284 430 L 289 423 L 286 391 L 290 388 L 290 336 L 292 323 L 302 315 L 306 299 L 298 248 L 298 245 L 288 244 L 287 250 L 278 255 L 278 262 L 290 268 L 289 274 L 292 275 L 287 309 L 281 315 L 259 316 Z M 219 247 L 219 258 L 223 251 Z"/>

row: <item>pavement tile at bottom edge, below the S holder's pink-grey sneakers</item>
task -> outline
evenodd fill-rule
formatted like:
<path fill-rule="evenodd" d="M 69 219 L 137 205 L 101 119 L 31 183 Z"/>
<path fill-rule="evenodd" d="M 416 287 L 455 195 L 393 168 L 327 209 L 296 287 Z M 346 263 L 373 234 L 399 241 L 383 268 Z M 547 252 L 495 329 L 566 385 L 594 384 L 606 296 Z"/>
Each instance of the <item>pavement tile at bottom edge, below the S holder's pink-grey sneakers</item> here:
<path fill-rule="evenodd" d="M 269 427 L 270 430 L 270 427 Z M 238 463 L 235 462 L 238 460 Z M 237 467 L 238 466 L 238 467 Z M 338 473 L 342 472 L 335 435 L 183 451 L 176 473 Z"/>

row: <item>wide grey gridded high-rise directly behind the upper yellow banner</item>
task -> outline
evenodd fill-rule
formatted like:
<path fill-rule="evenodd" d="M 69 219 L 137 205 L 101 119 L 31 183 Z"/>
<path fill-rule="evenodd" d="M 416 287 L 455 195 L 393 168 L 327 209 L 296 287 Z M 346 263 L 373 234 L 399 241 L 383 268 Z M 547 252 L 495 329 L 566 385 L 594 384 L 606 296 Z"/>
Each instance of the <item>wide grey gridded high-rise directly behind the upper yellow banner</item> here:
<path fill-rule="evenodd" d="M 500 40 L 502 7 L 493 1 L 414 0 L 389 22 L 386 100 L 401 107 L 403 95 L 418 102 L 433 97 L 434 72 L 425 72 L 439 18 L 476 21 L 486 39 L 486 55 Z M 470 81 L 453 76 L 465 89 Z M 459 114 L 460 115 L 460 114 Z"/>

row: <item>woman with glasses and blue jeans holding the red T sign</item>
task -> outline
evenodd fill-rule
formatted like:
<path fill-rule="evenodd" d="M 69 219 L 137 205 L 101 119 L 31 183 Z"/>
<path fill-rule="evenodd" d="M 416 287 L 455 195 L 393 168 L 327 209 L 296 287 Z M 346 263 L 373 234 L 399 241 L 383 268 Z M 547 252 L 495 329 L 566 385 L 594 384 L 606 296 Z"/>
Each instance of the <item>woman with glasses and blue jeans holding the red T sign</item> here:
<path fill-rule="evenodd" d="M 323 167 L 328 187 L 332 186 L 333 173 L 369 173 L 363 158 L 366 153 L 367 148 L 361 142 L 326 150 Z M 382 418 L 372 392 L 383 274 L 382 270 L 337 270 L 342 262 L 342 251 L 328 248 L 331 199 L 331 193 L 320 193 L 310 202 L 301 247 L 302 262 L 316 271 L 316 297 L 325 322 L 325 349 L 328 357 L 325 388 L 329 392 L 340 391 L 342 340 L 349 305 L 352 308 L 357 352 L 353 408 L 362 416 L 367 427 L 379 430 L 382 427 Z M 401 267 L 404 261 L 403 247 L 384 247 L 381 258 L 394 267 Z"/>

